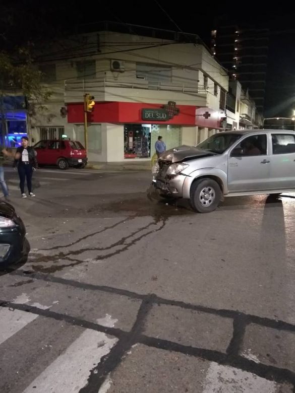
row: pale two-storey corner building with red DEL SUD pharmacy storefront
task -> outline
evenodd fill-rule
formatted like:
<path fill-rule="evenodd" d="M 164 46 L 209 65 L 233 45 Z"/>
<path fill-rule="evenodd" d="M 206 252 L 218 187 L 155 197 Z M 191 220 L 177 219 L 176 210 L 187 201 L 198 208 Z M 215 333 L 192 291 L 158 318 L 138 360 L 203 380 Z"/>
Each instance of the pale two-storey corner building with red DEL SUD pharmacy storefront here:
<path fill-rule="evenodd" d="M 198 36 L 124 30 L 104 24 L 65 40 L 63 50 L 47 48 L 40 69 L 53 94 L 41 109 L 30 105 L 32 143 L 67 135 L 84 144 L 85 93 L 95 100 L 90 161 L 150 160 L 159 135 L 168 149 L 223 129 L 228 75 Z"/>

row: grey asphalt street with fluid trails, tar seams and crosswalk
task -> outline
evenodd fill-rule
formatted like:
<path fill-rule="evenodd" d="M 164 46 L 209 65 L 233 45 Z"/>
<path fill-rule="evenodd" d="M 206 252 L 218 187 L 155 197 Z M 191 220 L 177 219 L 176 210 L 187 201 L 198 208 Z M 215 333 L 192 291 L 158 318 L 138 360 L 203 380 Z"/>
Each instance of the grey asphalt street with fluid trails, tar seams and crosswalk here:
<path fill-rule="evenodd" d="M 150 173 L 40 169 L 0 276 L 2 393 L 289 393 L 295 196 L 159 202 Z"/>

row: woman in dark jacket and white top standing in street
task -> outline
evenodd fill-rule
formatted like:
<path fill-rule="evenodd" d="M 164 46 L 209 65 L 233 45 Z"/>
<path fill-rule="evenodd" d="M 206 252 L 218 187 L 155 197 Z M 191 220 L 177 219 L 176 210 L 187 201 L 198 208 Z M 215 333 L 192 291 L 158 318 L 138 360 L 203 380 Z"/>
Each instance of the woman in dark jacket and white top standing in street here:
<path fill-rule="evenodd" d="M 36 153 L 31 146 L 28 146 L 29 139 L 27 137 L 23 137 L 21 143 L 22 146 L 17 148 L 15 154 L 14 168 L 18 168 L 22 198 L 27 198 L 25 194 L 25 179 L 27 179 L 29 196 L 35 197 L 35 194 L 32 192 L 32 175 L 33 171 L 37 169 Z"/>

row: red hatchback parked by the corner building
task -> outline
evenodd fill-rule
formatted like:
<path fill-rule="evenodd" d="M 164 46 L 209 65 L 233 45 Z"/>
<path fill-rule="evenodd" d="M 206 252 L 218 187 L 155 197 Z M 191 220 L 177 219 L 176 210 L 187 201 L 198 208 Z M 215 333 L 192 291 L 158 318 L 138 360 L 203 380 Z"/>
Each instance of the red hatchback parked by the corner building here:
<path fill-rule="evenodd" d="M 39 165 L 57 165 L 60 169 L 68 169 L 69 166 L 84 168 L 87 164 L 86 150 L 78 141 L 42 140 L 33 148 Z"/>

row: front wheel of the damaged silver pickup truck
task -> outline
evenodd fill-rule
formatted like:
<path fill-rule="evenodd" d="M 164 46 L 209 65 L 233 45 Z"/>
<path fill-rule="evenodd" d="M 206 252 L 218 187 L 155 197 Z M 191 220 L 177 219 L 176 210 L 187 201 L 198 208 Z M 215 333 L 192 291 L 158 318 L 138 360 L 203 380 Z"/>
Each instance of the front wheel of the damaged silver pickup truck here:
<path fill-rule="evenodd" d="M 191 207 L 199 213 L 213 212 L 220 203 L 221 195 L 221 189 L 215 180 L 196 180 L 191 187 Z"/>

